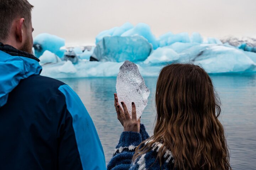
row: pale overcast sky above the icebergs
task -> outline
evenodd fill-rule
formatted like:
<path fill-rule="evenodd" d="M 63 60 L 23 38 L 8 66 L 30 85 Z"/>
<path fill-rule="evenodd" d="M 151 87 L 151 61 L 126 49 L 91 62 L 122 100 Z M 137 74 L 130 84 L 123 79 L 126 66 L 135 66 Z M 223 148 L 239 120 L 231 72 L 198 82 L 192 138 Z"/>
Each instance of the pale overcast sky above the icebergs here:
<path fill-rule="evenodd" d="M 256 36 L 256 0 L 28 0 L 34 36 L 50 33 L 67 44 L 93 43 L 102 30 L 125 22 L 149 24 L 159 36 L 171 31 L 221 38 Z"/>

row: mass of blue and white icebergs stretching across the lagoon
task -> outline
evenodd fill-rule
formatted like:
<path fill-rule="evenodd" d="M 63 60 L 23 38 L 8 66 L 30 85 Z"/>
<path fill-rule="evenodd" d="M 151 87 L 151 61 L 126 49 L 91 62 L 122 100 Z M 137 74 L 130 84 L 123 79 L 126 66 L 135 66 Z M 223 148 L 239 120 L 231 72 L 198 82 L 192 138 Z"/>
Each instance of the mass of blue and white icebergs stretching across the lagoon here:
<path fill-rule="evenodd" d="M 143 77 L 155 77 L 163 66 L 171 63 L 194 63 L 209 74 L 256 73 L 255 39 L 228 39 L 222 40 L 223 44 L 217 38 L 186 32 L 167 32 L 157 38 L 145 23 L 125 23 L 99 33 L 95 39 L 95 46 L 88 49 L 65 47 L 65 40 L 55 35 L 36 36 L 34 53 L 42 61 L 42 75 L 116 77 L 125 60 L 137 64 Z"/>

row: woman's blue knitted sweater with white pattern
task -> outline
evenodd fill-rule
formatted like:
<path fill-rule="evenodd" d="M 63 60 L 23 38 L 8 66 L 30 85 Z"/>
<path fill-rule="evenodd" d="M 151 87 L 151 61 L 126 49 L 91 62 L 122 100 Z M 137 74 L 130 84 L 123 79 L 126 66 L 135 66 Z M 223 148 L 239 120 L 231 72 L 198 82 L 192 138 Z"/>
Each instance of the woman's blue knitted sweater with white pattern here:
<path fill-rule="evenodd" d="M 108 163 L 108 170 L 172 170 L 174 169 L 174 158 L 171 151 L 166 150 L 162 158 L 162 166 L 156 159 L 162 143 L 155 142 L 150 152 L 147 152 L 138 157 L 135 162 L 132 162 L 135 149 L 142 141 L 148 140 L 149 135 L 146 132 L 145 126 L 140 124 L 140 133 L 123 132 L 113 154 L 113 158 Z M 146 142 L 146 143 L 147 143 Z"/>

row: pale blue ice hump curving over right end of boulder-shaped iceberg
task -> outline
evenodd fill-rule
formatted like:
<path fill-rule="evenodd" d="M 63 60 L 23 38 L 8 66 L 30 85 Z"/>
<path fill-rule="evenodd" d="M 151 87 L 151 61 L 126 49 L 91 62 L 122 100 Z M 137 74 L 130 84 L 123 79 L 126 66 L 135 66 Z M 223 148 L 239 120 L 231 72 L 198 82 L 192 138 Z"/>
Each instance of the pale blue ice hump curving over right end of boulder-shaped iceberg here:
<path fill-rule="evenodd" d="M 154 49 L 159 47 L 158 41 L 155 36 L 152 34 L 150 27 L 145 23 L 138 23 L 133 29 L 124 32 L 121 36 L 133 36 L 140 35 L 148 40 L 149 43 L 153 45 Z"/>

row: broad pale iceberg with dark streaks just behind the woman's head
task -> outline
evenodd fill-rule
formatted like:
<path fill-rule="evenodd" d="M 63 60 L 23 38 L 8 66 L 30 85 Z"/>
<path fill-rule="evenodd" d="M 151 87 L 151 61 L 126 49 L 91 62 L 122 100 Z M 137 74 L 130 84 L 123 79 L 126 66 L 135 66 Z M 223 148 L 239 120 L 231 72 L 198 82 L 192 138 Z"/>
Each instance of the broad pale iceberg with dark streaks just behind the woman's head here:
<path fill-rule="evenodd" d="M 207 73 L 242 73 L 256 70 L 256 64 L 251 58 L 244 51 L 232 46 L 195 43 L 187 48 L 185 43 L 179 45 L 186 47 L 178 52 L 179 62 L 201 65 Z"/>

